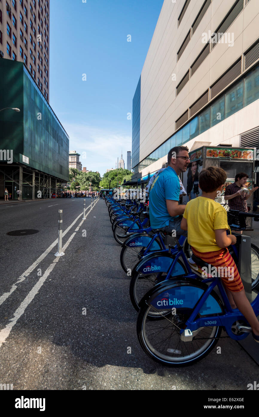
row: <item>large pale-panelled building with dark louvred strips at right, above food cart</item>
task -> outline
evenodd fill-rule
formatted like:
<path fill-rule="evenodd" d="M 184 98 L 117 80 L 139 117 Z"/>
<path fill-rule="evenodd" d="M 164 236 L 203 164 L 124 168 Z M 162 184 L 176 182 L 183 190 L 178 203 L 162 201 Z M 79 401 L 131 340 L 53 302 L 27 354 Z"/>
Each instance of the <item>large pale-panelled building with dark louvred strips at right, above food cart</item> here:
<path fill-rule="evenodd" d="M 173 146 L 259 148 L 258 114 L 259 1 L 165 0 L 133 98 L 132 180 Z"/>

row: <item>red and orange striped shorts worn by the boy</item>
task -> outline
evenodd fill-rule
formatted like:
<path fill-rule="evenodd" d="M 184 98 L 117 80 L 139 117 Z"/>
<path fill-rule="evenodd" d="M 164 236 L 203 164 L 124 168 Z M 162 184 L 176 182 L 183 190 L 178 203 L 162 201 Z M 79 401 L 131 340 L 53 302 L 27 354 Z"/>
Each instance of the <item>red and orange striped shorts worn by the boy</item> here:
<path fill-rule="evenodd" d="M 244 289 L 237 266 L 227 248 L 222 248 L 215 252 L 199 252 L 192 247 L 192 252 L 195 256 L 202 259 L 202 261 L 217 268 L 218 274 L 216 276 L 220 276 L 222 284 L 229 291 L 239 292 Z"/>

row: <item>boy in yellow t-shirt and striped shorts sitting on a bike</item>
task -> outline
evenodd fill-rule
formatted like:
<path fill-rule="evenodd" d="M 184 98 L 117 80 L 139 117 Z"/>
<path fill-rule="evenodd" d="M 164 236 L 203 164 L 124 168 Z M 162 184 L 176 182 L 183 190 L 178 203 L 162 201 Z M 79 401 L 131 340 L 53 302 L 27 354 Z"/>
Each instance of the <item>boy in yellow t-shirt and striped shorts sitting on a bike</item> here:
<path fill-rule="evenodd" d="M 224 271 L 224 276 L 220 278 L 231 307 L 241 311 L 252 327 L 254 340 L 259 343 L 259 322 L 245 295 L 237 266 L 227 249 L 227 246 L 236 243 L 237 238 L 227 235 L 227 211 L 214 201 L 218 191 L 222 192 L 226 179 L 227 175 L 222 168 L 210 166 L 200 172 L 202 196 L 187 203 L 181 229 L 188 230 L 188 243 L 195 256 L 213 266 L 227 267 L 220 269 Z M 229 268 L 234 271 L 231 279 L 228 279 Z"/>

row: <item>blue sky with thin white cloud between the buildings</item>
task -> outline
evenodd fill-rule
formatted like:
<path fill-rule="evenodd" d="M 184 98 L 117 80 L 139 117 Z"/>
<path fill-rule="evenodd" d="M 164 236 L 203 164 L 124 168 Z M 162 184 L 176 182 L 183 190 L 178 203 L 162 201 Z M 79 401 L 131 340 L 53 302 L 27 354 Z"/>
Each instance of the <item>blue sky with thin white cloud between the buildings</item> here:
<path fill-rule="evenodd" d="M 69 150 L 103 175 L 115 168 L 121 148 L 125 163 L 131 151 L 127 113 L 163 0 L 86 1 L 50 0 L 49 103 Z"/>

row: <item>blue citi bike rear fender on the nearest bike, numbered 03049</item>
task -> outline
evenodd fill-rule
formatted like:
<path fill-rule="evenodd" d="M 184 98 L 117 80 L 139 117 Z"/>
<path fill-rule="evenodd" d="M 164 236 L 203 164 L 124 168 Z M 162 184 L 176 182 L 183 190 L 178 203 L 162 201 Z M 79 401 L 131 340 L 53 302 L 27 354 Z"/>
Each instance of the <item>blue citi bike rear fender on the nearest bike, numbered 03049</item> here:
<path fill-rule="evenodd" d="M 165 281 L 148 291 L 141 300 L 140 306 L 143 303 L 147 303 L 157 310 L 165 310 L 173 307 L 176 309 L 194 309 L 197 301 L 206 289 L 206 284 L 202 282 L 196 283 L 194 280 Z M 201 306 L 199 314 L 201 316 L 211 316 L 212 314 L 223 313 L 224 309 L 220 298 L 215 291 L 212 291 L 205 300 L 205 303 Z"/>

